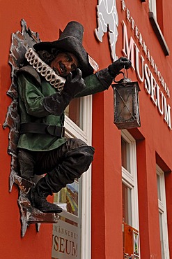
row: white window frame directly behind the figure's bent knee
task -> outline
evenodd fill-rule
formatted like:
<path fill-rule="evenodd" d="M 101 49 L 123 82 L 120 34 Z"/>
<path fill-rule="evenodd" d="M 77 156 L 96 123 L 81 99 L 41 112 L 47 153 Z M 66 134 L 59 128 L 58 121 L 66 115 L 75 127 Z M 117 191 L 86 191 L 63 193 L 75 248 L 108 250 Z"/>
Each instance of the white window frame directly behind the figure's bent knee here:
<path fill-rule="evenodd" d="M 91 145 L 92 143 L 92 95 L 84 97 L 83 130 L 65 116 L 65 132 Z M 81 195 L 81 259 L 91 259 L 91 166 L 82 175 Z"/>

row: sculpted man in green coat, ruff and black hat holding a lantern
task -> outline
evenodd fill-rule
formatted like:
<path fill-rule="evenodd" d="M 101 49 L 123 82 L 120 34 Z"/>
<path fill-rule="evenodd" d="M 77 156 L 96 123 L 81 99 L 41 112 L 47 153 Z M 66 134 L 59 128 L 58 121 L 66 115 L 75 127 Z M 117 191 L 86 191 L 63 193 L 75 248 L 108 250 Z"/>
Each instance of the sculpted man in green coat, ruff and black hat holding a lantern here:
<path fill-rule="evenodd" d="M 57 41 L 36 43 L 28 50 L 26 65 L 17 72 L 19 170 L 29 181 L 34 174 L 45 174 L 29 193 L 33 207 L 42 212 L 60 213 L 61 207 L 47 202 L 47 196 L 79 178 L 93 161 L 92 146 L 64 137 L 65 108 L 73 98 L 107 90 L 118 71 L 131 66 L 121 57 L 93 74 L 82 45 L 83 32 L 81 24 L 69 22 Z M 65 81 L 63 86 L 57 75 Z"/>

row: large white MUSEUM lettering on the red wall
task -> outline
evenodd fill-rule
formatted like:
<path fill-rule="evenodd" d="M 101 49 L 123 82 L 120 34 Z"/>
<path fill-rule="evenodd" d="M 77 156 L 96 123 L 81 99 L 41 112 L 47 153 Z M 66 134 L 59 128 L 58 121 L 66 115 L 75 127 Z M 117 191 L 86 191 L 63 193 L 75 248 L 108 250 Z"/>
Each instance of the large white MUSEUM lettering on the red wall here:
<path fill-rule="evenodd" d="M 125 22 L 123 21 L 123 53 L 132 61 L 132 67 L 136 71 L 136 76 L 139 78 L 139 81 L 144 83 L 144 89 L 146 93 L 149 94 L 151 101 L 157 107 L 159 114 L 164 117 L 165 123 L 171 128 L 171 106 L 167 104 L 166 97 L 162 90 L 155 80 L 155 76 L 150 71 L 148 64 L 145 62 L 143 55 L 140 54 L 140 50 L 132 36 L 130 37 L 130 41 L 127 36 L 127 27 Z M 150 59 L 151 60 L 151 59 Z M 155 66 L 155 71 L 157 71 L 157 78 L 159 82 L 164 87 L 163 90 L 169 96 L 169 88 L 164 83 L 164 78 L 161 73 L 157 70 L 157 66 Z"/>

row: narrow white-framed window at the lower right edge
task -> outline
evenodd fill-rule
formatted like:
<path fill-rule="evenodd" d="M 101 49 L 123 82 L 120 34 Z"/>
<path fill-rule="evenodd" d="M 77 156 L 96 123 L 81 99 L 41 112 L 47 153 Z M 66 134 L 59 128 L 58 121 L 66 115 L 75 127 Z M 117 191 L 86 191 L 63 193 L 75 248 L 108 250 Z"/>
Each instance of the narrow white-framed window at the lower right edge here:
<path fill-rule="evenodd" d="M 159 207 L 159 232 L 162 248 L 162 259 L 169 259 L 169 238 L 166 217 L 166 187 L 164 172 L 157 165 L 157 197 Z"/>

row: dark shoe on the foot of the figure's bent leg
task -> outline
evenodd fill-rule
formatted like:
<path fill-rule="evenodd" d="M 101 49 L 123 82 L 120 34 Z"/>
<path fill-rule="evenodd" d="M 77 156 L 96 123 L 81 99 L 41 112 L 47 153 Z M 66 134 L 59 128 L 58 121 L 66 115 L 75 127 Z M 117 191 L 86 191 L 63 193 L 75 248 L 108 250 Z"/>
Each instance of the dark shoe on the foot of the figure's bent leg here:
<path fill-rule="evenodd" d="M 31 202 L 34 208 L 45 213 L 61 213 L 63 211 L 58 205 L 47 202 L 45 197 L 39 196 L 34 188 L 31 189 Z"/>

